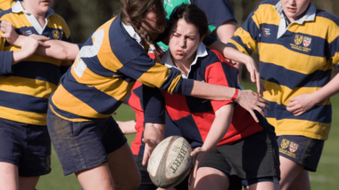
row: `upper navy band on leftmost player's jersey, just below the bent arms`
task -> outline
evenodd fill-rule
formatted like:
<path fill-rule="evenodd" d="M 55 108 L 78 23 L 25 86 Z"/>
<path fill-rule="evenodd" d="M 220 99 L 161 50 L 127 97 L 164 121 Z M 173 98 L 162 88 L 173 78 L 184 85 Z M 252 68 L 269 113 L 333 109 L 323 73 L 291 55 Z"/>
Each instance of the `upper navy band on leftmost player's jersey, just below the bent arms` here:
<path fill-rule="evenodd" d="M 12 75 L 38 79 L 58 85 L 60 80 L 59 67 L 50 63 L 21 61 L 12 66 Z"/>

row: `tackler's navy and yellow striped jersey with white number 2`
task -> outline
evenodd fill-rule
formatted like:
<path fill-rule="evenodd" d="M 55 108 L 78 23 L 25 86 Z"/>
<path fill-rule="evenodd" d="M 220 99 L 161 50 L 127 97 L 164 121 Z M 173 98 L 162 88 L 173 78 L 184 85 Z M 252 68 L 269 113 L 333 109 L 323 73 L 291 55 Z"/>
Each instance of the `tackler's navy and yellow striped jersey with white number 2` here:
<path fill-rule="evenodd" d="M 52 111 L 73 122 L 110 117 L 136 80 L 170 93 L 191 93 L 193 80 L 182 79 L 177 69 L 156 63 L 145 50 L 148 47 L 142 46 L 140 36 L 120 16 L 107 21 L 62 76 L 50 101 Z"/>

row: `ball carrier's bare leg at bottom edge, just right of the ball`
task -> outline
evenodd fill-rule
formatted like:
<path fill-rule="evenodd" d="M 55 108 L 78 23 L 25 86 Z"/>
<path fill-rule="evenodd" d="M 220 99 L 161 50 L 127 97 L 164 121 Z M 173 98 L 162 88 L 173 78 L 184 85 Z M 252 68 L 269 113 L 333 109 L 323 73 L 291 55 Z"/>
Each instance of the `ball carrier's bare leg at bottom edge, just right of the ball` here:
<path fill-rule="evenodd" d="M 189 186 L 189 189 L 228 189 L 228 186 L 229 180 L 224 172 L 210 167 L 201 167 L 197 170 L 194 183 Z"/>

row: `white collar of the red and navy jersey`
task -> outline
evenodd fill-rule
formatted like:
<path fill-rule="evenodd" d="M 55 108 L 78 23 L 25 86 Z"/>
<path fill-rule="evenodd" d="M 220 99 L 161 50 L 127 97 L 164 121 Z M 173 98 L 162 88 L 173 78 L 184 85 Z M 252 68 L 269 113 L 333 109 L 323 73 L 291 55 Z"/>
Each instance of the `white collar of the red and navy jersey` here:
<path fill-rule="evenodd" d="M 192 66 L 194 66 L 196 64 L 196 61 L 198 60 L 198 58 L 203 58 L 206 57 L 208 55 L 208 52 L 206 50 L 206 46 L 202 43 L 199 45 L 198 50 L 196 51 L 196 55 L 195 55 L 195 59 L 192 62 L 190 69 L 188 71 L 188 74 L 185 75 L 183 73 L 181 73 L 183 75 L 183 78 L 187 78 L 189 73 L 191 72 Z M 162 56 L 161 59 L 161 63 L 164 63 L 167 67 L 175 67 L 177 68 L 174 63 L 173 60 L 170 56 L 170 50 L 166 51 L 165 54 Z M 177 68 L 178 69 L 178 68 Z"/>

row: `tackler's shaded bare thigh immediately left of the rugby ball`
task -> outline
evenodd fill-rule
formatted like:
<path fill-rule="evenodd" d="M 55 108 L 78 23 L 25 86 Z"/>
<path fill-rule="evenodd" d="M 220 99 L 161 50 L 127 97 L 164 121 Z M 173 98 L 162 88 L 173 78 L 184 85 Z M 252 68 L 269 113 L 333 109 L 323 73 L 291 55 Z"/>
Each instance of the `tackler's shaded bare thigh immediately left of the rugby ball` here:
<path fill-rule="evenodd" d="M 140 186 L 140 173 L 127 143 L 107 156 L 116 189 L 136 189 Z"/>

